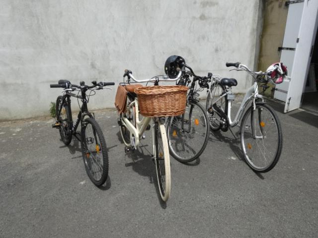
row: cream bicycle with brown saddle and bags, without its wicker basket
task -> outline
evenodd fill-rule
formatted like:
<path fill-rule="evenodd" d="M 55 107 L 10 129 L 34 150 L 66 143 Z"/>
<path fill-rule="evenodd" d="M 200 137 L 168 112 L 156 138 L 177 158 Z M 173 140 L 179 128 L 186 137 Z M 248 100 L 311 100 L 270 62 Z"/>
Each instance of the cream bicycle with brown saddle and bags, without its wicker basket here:
<path fill-rule="evenodd" d="M 169 198 L 171 188 L 170 178 L 170 158 L 169 149 L 165 129 L 165 117 L 147 117 L 144 116 L 141 120 L 139 97 L 136 90 L 141 89 L 143 85 L 131 83 L 131 79 L 134 82 L 153 82 L 155 86 L 158 86 L 159 81 L 176 81 L 181 76 L 181 70 L 179 70 L 176 79 L 170 79 L 166 76 L 156 76 L 151 79 L 137 80 L 132 71 L 125 70 L 124 79 L 127 76 L 127 82 L 120 83 L 116 94 L 115 103 L 117 109 L 119 109 L 118 124 L 120 127 L 120 133 L 125 143 L 125 151 L 136 150 L 139 146 L 140 140 L 144 139 L 144 132 L 150 130 L 152 127 L 153 135 L 153 160 L 156 165 L 157 181 L 159 185 L 159 192 L 161 199 L 165 202 Z M 122 88 L 121 88 L 122 87 Z M 174 86 L 175 87 L 175 86 Z M 152 87 L 148 87 L 152 88 Z M 119 90 L 123 90 L 121 94 Z M 127 90 L 127 91 L 126 91 Z M 186 89 L 185 89 L 186 92 Z M 118 97 L 117 97 L 118 95 Z M 126 97 L 127 96 L 127 97 Z M 119 106 L 120 105 L 120 106 Z M 156 105 L 153 105 L 154 107 Z M 180 113 L 181 114 L 181 113 Z M 153 125 L 151 126 L 150 123 Z"/>

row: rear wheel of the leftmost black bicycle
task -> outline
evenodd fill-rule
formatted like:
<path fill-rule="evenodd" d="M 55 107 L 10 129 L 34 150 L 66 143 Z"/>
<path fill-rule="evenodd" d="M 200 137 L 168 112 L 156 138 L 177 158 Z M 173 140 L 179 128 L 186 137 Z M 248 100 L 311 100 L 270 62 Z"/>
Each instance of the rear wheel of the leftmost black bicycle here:
<path fill-rule="evenodd" d="M 63 102 L 63 97 L 58 96 L 55 105 L 56 120 L 60 123 L 60 136 L 65 145 L 69 145 L 72 141 L 72 131 L 69 128 L 69 107 L 66 102 Z M 62 109 L 61 109 L 62 108 Z"/>

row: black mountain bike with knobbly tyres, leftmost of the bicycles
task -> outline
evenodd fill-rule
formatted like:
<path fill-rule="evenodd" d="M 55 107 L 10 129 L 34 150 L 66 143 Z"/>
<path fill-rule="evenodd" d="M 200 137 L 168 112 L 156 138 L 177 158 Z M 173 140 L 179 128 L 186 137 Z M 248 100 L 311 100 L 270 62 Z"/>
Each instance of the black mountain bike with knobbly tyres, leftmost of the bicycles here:
<path fill-rule="evenodd" d="M 108 153 L 103 132 L 94 119 L 94 114 L 87 109 L 90 96 L 95 94 L 95 90 L 103 89 L 104 86 L 115 85 L 112 82 L 92 81 L 91 86 L 85 85 L 83 81 L 80 85 L 71 84 L 69 80 L 59 80 L 58 84 L 51 84 L 51 88 L 64 88 L 63 96 L 58 96 L 56 100 L 56 122 L 52 125 L 58 128 L 61 139 L 65 145 L 69 145 L 74 135 L 81 142 L 81 151 L 84 166 L 89 179 L 96 185 L 102 185 L 108 177 Z M 110 89 L 110 88 L 107 88 Z M 71 93 L 78 91 L 78 94 Z M 90 90 L 89 95 L 86 95 Z M 80 93 L 80 95 L 79 95 Z M 91 94 L 94 93 L 94 94 Z M 82 102 L 79 106 L 79 114 L 75 123 L 72 119 L 71 97 L 75 97 Z M 77 128 L 81 126 L 80 133 Z M 80 138 L 78 137 L 80 136 Z"/>

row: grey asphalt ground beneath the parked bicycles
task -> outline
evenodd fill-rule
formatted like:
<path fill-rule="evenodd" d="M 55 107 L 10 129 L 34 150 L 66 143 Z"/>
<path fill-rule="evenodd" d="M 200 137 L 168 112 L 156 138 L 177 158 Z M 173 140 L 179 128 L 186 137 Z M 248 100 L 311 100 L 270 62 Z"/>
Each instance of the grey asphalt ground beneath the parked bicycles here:
<path fill-rule="evenodd" d="M 270 105 L 284 137 L 273 170 L 255 174 L 239 139 L 210 133 L 194 163 L 170 158 L 167 203 L 149 153 L 151 133 L 125 154 L 115 111 L 95 113 L 109 149 L 101 188 L 86 175 L 79 142 L 65 146 L 53 119 L 1 122 L 0 237 L 317 237 L 318 117 Z"/>

